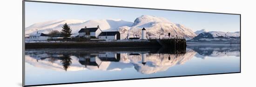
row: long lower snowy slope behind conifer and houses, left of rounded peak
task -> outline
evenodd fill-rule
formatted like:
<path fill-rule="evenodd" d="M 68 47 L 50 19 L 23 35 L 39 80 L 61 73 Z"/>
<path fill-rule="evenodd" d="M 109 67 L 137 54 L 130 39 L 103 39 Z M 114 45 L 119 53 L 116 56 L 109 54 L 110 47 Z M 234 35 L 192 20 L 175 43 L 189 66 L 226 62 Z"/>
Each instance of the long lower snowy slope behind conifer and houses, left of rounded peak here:
<path fill-rule="evenodd" d="M 57 22 L 56 22 L 57 21 Z M 32 34 L 36 32 L 40 33 L 49 33 L 52 30 L 58 30 L 61 31 L 61 27 L 63 24 L 67 23 L 71 29 L 72 33 L 78 33 L 78 31 L 81 28 L 84 28 L 85 26 L 87 27 L 97 27 L 98 25 L 100 26 L 101 30 L 113 30 L 118 27 L 122 26 L 131 26 L 133 23 L 124 21 L 124 20 L 88 20 L 88 21 L 83 21 L 83 20 L 53 20 L 53 21 L 48 21 L 48 22 L 43 22 L 43 23 L 36 23 L 30 27 L 27 27 L 25 30 L 26 34 Z"/>

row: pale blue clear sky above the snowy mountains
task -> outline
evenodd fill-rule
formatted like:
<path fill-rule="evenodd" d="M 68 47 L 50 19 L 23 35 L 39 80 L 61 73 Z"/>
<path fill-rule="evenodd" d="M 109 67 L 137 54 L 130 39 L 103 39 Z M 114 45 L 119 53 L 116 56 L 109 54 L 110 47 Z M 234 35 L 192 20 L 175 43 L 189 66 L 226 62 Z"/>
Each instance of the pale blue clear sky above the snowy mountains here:
<path fill-rule="evenodd" d="M 101 20 L 121 19 L 134 22 L 141 15 L 163 17 L 171 22 L 182 24 L 192 31 L 237 32 L 240 31 L 240 15 L 165 11 L 121 7 L 99 7 L 85 5 L 26 2 L 25 26 L 49 20 Z"/>

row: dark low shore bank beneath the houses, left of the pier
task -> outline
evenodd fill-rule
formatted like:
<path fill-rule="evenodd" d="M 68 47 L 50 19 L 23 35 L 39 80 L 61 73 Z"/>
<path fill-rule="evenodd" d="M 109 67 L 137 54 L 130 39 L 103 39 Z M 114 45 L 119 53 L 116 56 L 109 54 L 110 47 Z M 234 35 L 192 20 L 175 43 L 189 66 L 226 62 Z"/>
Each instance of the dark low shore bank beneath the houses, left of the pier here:
<path fill-rule="evenodd" d="M 149 42 L 40 42 L 25 43 L 25 49 L 35 48 L 145 48 L 162 47 L 156 41 Z"/>

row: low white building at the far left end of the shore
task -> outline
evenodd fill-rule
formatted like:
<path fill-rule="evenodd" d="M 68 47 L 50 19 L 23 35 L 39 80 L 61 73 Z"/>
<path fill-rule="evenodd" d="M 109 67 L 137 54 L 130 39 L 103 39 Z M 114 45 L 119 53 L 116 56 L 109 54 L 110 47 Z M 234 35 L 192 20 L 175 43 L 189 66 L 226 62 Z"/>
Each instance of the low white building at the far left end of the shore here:
<path fill-rule="evenodd" d="M 36 33 L 36 34 L 31 34 L 29 35 L 28 38 L 26 38 L 27 41 L 39 41 L 39 40 L 48 40 L 51 39 L 47 34 L 44 33 Z"/>

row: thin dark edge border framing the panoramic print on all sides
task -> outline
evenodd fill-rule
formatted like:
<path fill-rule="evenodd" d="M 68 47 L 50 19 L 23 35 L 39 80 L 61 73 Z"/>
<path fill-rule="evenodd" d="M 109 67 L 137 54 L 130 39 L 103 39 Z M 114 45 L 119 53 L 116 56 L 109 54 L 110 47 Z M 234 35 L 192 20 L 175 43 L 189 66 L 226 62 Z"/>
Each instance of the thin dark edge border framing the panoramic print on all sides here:
<path fill-rule="evenodd" d="M 119 81 L 119 80 L 98 80 L 98 81 L 84 81 L 84 82 L 69 82 L 69 83 L 25 85 L 25 79 L 26 79 L 26 78 L 25 78 L 25 73 L 26 73 L 26 72 L 25 72 L 25 2 L 69 4 L 69 5 L 84 5 L 84 6 L 99 6 L 99 7 L 136 8 L 136 9 L 181 11 L 181 12 L 195 12 L 195 13 L 215 13 L 215 12 L 186 11 L 186 10 L 172 10 L 172 9 L 158 9 L 158 8 L 121 7 L 121 6 L 105 6 L 105 5 L 92 5 L 92 4 L 78 4 L 78 3 L 64 3 L 64 2 L 49 2 L 49 1 L 22 0 L 22 86 L 23 86 L 23 87 L 46 86 L 46 85 L 61 85 L 61 84 L 76 84 L 76 83 L 88 83 L 88 82 Z M 218 14 L 240 15 L 240 71 L 239 71 L 239 72 L 232 72 L 232 73 L 218 73 L 218 74 L 235 74 L 235 73 L 241 73 L 241 14 L 236 14 L 236 13 L 218 13 Z M 182 75 L 182 76 L 165 76 L 165 77 L 121 79 L 121 80 L 142 80 L 142 79 L 156 79 L 156 78 L 183 77 L 183 76 L 198 76 L 198 75 L 213 75 L 213 74 L 194 74 L 194 75 Z"/>

